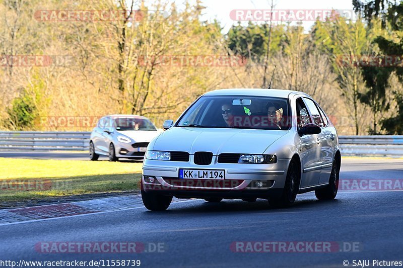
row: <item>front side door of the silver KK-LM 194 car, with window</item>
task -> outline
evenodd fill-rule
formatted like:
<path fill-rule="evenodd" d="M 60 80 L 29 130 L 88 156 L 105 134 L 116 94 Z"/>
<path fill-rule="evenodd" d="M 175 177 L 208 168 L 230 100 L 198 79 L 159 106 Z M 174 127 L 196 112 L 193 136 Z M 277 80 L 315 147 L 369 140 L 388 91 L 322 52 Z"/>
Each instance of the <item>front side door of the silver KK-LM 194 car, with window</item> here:
<path fill-rule="evenodd" d="M 312 123 L 312 117 L 302 98 L 296 100 L 298 129 Z M 320 136 L 303 135 L 301 137 L 301 164 L 302 176 L 300 188 L 317 185 L 320 179 L 321 168 Z"/>

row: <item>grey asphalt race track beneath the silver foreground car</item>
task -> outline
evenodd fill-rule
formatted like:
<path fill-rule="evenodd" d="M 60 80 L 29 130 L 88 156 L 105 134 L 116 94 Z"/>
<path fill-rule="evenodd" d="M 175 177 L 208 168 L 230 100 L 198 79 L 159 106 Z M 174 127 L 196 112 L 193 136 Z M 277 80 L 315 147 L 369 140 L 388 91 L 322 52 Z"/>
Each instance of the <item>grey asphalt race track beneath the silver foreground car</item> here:
<path fill-rule="evenodd" d="M 403 159 L 345 158 L 341 179 L 401 179 Z M 333 201 L 313 193 L 292 208 L 202 200 L 172 203 L 165 212 L 144 207 L 0 226 L 0 259 L 140 259 L 144 267 L 344 267 L 346 260 L 403 261 L 403 191 L 340 191 Z M 43 253 L 41 242 L 142 242 L 142 253 Z M 237 252 L 260 242 L 330 242 L 331 252 Z M 236 243 L 238 242 L 238 243 Z M 248 244 L 249 242 L 249 244 Z M 155 245 L 160 243 L 160 252 Z M 234 245 L 241 245 L 235 247 Z M 335 246 L 334 246 L 335 245 Z M 253 247 L 253 246 L 252 246 Z M 255 251 L 261 249 L 256 247 Z M 250 249 L 250 248 L 249 248 Z M 273 250 L 270 250 L 273 251 Z"/>

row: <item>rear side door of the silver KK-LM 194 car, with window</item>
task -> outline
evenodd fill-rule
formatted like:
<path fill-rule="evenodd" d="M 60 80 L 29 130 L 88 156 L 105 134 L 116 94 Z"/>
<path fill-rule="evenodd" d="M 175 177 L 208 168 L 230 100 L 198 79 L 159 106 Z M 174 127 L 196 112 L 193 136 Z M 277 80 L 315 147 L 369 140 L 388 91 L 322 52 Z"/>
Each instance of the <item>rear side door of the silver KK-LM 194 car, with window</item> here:
<path fill-rule="evenodd" d="M 320 116 L 323 121 L 322 132 L 320 133 L 320 142 L 322 145 L 321 158 L 322 158 L 322 169 L 320 172 L 319 184 L 325 184 L 329 181 L 331 167 L 333 165 L 333 155 L 334 155 L 334 140 L 336 135 L 336 130 L 329 124 L 326 114 L 317 105 Z"/>

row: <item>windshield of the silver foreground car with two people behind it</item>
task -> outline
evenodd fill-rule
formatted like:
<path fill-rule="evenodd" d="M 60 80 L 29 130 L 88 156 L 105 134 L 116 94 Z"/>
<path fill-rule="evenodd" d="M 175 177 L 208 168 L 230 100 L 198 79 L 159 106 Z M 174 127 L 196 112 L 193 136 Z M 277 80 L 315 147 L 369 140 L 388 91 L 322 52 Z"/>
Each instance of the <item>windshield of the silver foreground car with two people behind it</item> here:
<path fill-rule="evenodd" d="M 182 116 L 177 127 L 288 130 L 288 99 L 250 96 L 201 97 Z"/>

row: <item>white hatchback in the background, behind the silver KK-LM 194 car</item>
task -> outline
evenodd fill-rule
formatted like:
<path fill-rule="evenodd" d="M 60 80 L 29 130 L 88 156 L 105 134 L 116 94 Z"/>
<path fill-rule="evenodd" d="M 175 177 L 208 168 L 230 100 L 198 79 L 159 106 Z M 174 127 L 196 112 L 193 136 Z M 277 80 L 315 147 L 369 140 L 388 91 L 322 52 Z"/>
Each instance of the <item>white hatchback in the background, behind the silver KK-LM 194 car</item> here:
<path fill-rule="evenodd" d="M 91 132 L 90 159 L 95 161 L 99 155 L 107 155 L 109 161 L 142 160 L 150 141 L 161 132 L 144 116 L 104 116 Z"/>

